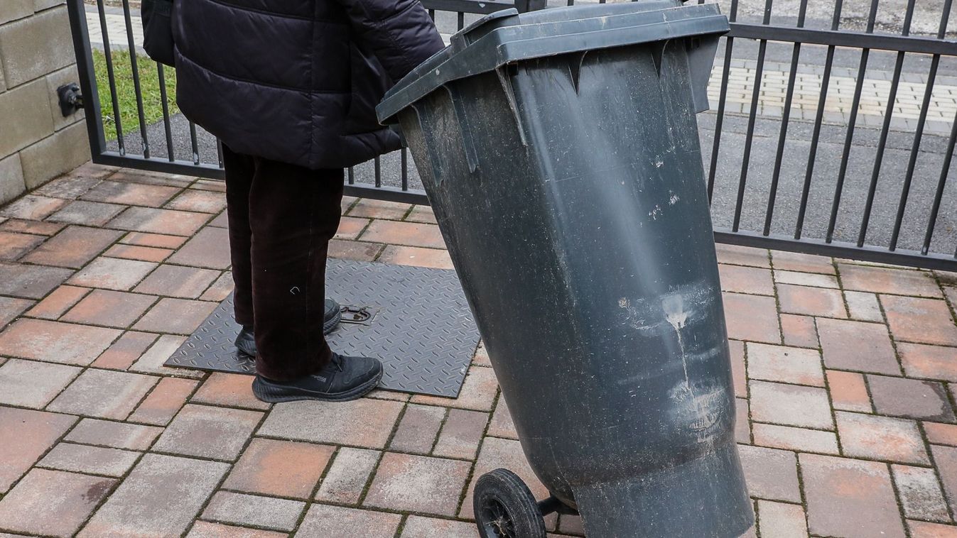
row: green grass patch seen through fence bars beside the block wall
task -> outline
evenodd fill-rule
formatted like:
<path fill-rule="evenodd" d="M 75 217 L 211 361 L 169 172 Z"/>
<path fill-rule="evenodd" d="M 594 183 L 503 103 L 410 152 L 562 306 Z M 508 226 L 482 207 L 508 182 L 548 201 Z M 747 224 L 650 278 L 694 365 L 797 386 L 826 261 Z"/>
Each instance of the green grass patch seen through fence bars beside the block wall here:
<path fill-rule="evenodd" d="M 136 88 L 133 85 L 133 65 L 126 51 L 112 51 L 113 75 L 116 82 L 117 103 L 120 107 L 120 121 L 123 133 L 139 132 L 140 116 L 136 103 Z M 97 73 L 97 87 L 100 89 L 100 113 L 103 118 L 103 130 L 107 140 L 116 140 L 116 113 L 110 98 L 110 79 L 106 72 L 106 54 L 93 51 L 93 65 Z M 160 97 L 160 76 L 156 62 L 145 55 L 136 56 L 136 66 L 140 73 L 140 90 L 143 93 L 143 116 L 146 125 L 163 119 L 163 99 Z M 163 69 L 167 86 L 167 104 L 169 115 L 179 112 L 176 108 L 176 71 L 169 67 Z"/>

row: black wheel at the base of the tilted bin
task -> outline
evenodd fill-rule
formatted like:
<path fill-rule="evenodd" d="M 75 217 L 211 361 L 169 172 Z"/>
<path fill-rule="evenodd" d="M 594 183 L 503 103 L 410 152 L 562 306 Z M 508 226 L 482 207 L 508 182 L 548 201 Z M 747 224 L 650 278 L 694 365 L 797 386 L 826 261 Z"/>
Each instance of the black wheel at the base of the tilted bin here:
<path fill-rule="evenodd" d="M 481 538 L 545 538 L 538 503 L 512 471 L 496 469 L 482 475 L 472 504 Z"/>

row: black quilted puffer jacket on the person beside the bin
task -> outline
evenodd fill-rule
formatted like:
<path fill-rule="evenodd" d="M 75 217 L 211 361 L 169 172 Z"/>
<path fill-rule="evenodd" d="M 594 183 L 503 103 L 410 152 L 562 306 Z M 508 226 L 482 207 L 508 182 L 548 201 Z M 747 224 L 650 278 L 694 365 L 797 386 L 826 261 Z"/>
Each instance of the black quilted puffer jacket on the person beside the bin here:
<path fill-rule="evenodd" d="M 176 100 L 236 152 L 308 168 L 398 149 L 375 105 L 442 49 L 418 0 L 176 0 Z"/>

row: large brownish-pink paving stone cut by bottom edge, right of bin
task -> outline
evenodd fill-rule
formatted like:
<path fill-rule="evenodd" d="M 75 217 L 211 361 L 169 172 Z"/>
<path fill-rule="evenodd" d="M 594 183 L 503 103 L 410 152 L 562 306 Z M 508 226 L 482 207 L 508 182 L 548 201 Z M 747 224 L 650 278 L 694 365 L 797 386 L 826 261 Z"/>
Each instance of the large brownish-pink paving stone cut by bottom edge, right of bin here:
<path fill-rule="evenodd" d="M 904 536 L 886 464 L 814 454 L 799 458 L 812 534 Z"/>

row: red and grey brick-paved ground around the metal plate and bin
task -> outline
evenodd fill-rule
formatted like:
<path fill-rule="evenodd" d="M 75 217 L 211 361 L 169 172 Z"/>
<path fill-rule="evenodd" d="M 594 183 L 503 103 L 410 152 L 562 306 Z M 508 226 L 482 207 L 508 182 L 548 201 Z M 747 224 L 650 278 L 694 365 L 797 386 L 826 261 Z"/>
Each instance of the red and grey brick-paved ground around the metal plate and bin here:
<path fill-rule="evenodd" d="M 481 349 L 455 400 L 164 367 L 231 288 L 221 190 L 86 165 L 0 208 L 0 535 L 456 538 L 479 474 L 542 494 Z M 339 235 L 449 267 L 427 208 L 350 200 Z M 719 253 L 750 535 L 957 536 L 957 275 Z"/>

